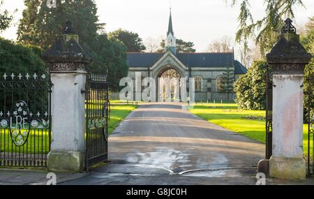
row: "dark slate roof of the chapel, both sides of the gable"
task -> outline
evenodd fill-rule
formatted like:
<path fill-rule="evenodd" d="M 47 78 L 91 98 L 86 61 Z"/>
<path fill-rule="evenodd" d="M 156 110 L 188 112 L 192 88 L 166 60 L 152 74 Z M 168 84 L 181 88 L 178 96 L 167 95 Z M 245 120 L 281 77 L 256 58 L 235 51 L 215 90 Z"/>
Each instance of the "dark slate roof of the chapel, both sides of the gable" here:
<path fill-rule="evenodd" d="M 163 53 L 128 52 L 130 67 L 151 67 Z M 177 53 L 176 57 L 187 67 L 219 68 L 232 66 L 233 53 Z"/>

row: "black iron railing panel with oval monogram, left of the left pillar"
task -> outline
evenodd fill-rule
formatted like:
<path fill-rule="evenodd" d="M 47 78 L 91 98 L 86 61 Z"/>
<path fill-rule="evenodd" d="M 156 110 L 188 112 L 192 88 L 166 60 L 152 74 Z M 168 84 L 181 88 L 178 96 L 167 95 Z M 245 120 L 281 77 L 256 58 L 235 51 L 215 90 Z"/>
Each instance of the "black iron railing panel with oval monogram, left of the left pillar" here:
<path fill-rule="evenodd" d="M 51 140 L 50 75 L 0 75 L 0 166 L 46 167 Z"/>

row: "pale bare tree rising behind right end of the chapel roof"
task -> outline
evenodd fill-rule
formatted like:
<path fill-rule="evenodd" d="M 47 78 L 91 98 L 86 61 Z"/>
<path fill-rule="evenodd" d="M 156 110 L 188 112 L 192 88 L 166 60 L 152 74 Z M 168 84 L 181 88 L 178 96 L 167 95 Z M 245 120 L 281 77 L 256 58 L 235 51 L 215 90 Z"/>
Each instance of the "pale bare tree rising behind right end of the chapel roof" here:
<path fill-rule="evenodd" d="M 207 47 L 208 52 L 232 52 L 232 38 L 230 36 L 223 36 L 214 40 Z"/>

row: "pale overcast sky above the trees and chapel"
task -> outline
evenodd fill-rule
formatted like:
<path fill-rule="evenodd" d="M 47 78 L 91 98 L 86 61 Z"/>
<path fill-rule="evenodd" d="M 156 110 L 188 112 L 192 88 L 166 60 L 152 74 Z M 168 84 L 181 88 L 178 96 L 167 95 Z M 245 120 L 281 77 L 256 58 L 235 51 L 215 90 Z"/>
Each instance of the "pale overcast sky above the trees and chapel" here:
<path fill-rule="evenodd" d="M 303 0 L 306 8 L 296 8 L 298 25 L 314 15 L 314 0 Z M 252 0 L 255 19 L 264 15 L 264 0 Z M 1 36 L 15 40 L 17 22 L 22 17 L 23 0 L 4 0 L 8 10 L 17 9 L 15 25 Z M 96 0 L 100 22 L 107 32 L 128 29 L 143 39 L 165 37 L 170 0 Z M 172 0 L 172 20 L 177 38 L 193 41 L 197 52 L 203 52 L 212 40 L 232 36 L 237 31 L 239 6 L 228 6 L 224 0 Z M 235 49 L 237 50 L 237 48 Z"/>

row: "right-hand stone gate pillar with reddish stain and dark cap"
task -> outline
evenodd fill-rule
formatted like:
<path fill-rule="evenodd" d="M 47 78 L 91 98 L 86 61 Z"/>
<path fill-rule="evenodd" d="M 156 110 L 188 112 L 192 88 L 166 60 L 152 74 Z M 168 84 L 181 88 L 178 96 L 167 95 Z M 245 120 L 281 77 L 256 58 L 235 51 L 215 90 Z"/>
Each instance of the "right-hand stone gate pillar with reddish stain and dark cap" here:
<path fill-rule="evenodd" d="M 288 18 L 278 42 L 267 54 L 274 83 L 270 177 L 306 178 L 303 156 L 303 83 L 304 68 L 310 59 L 311 54 L 299 43 L 299 35 Z"/>

